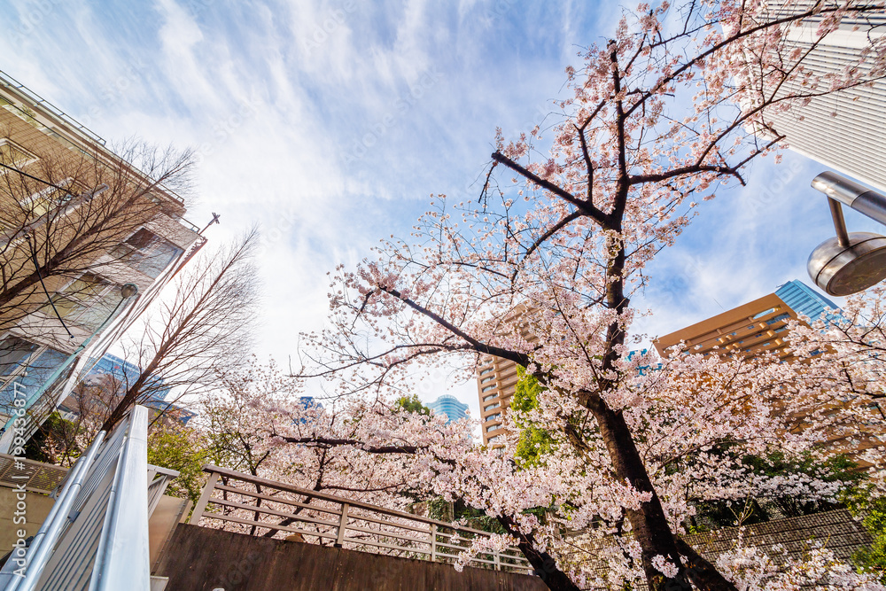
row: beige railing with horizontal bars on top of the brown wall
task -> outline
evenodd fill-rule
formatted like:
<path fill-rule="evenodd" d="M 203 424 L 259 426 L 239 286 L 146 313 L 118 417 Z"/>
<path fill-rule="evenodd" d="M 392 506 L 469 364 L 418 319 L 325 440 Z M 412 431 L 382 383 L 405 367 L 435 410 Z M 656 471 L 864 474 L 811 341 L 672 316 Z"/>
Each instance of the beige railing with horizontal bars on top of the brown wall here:
<path fill-rule="evenodd" d="M 488 532 L 385 509 L 332 494 L 206 465 L 206 486 L 190 523 L 251 535 L 287 535 L 304 541 L 376 554 L 454 563 Z M 470 566 L 532 571 L 517 548 L 472 556 Z"/>

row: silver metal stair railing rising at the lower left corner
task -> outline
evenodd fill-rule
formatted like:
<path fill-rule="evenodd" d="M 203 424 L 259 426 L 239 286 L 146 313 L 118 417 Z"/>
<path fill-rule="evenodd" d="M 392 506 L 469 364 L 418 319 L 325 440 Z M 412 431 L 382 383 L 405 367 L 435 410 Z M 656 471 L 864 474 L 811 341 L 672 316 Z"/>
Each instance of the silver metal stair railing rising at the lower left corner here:
<path fill-rule="evenodd" d="M 175 470 L 147 462 L 148 410 L 99 432 L 40 530 L 0 571 L 2 591 L 149 591 L 148 517 Z"/>

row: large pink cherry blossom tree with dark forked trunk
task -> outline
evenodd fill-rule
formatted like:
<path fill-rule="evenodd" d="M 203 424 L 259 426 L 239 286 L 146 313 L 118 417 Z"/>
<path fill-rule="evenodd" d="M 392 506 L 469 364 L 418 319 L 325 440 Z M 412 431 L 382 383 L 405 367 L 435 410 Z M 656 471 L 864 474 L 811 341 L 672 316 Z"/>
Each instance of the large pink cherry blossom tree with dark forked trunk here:
<path fill-rule="evenodd" d="M 306 336 L 300 378 L 335 380 L 339 395 L 367 403 L 435 364 L 470 377 L 482 356 L 517 362 L 546 388 L 532 412 L 556 433 L 547 463 L 520 466 L 509 447 L 447 447 L 424 427 L 415 439 L 370 424 L 346 438 L 277 440 L 412 455 L 436 494 L 498 517 L 552 589 L 579 588 L 580 575 L 553 564 L 553 533 L 526 509 L 551 508 L 557 526 L 596 520 L 629 533 L 613 579 L 735 588 L 681 540 L 688 500 L 783 486 L 746 478 L 736 454 L 817 449 L 844 415 L 837 401 L 851 372 L 808 363 L 812 350 L 801 347 L 781 365 L 677 355 L 641 376 L 649 360 L 629 355 L 643 339 L 631 330 L 641 313 L 631 299 L 698 203 L 776 154 L 785 138 L 773 115 L 886 74 L 877 35 L 842 71 L 809 66 L 826 35 L 882 11 L 855 1 L 641 4 L 613 39 L 583 52 L 583 68 L 567 69 L 570 95 L 545 130 L 547 153 L 540 128 L 513 141 L 499 134 L 478 205 L 440 195 L 408 240 L 338 269 L 330 328 Z M 789 37 L 810 23 L 797 49 Z M 879 357 L 859 355 L 871 375 L 880 370 Z M 806 424 L 789 422 L 801 413 Z M 821 482 L 802 487 L 833 494 Z"/>

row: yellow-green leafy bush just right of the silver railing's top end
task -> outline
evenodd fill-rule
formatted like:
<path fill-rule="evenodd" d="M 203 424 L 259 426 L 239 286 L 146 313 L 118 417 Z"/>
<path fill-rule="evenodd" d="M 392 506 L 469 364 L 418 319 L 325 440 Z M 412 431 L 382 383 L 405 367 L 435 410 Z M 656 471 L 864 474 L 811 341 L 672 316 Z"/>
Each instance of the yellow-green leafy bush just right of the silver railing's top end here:
<path fill-rule="evenodd" d="M 148 434 L 148 463 L 179 472 L 166 494 L 196 503 L 204 482 L 203 464 L 208 459 L 203 440 L 186 427 L 161 426 Z"/>

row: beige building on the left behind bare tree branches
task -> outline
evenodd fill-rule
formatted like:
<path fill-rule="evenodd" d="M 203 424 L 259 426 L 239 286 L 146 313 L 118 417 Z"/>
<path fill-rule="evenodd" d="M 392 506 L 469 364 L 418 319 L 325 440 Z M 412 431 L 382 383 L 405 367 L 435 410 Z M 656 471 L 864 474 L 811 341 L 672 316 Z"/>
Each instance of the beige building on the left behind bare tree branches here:
<path fill-rule="evenodd" d="M 175 192 L 2 72 L 0 165 L 6 452 L 13 434 L 27 439 L 58 407 L 89 359 L 105 354 L 205 239 L 183 219 Z M 13 430 L 19 408 L 26 424 Z"/>

